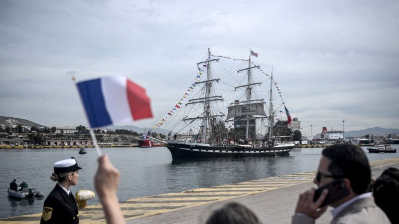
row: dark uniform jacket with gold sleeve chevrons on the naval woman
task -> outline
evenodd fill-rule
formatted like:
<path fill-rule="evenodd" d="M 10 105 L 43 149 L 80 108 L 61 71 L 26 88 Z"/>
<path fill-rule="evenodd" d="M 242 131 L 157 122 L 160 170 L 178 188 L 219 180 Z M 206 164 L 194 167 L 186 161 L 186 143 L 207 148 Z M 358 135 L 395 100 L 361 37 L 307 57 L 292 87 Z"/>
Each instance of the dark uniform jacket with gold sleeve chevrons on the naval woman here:
<path fill-rule="evenodd" d="M 79 223 L 78 205 L 72 192 L 67 195 L 65 190 L 56 184 L 44 201 L 40 223 Z"/>

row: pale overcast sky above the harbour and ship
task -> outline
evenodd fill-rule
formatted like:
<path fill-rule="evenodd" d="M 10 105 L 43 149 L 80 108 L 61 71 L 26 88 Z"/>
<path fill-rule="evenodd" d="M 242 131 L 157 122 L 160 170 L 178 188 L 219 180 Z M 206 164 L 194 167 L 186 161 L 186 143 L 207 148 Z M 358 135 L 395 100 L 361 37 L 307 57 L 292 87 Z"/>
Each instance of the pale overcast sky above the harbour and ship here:
<path fill-rule="evenodd" d="M 196 63 L 247 58 L 303 131 L 399 128 L 398 1 L 0 1 L 0 116 L 87 124 L 71 81 L 122 75 L 147 89 L 151 127 Z"/>

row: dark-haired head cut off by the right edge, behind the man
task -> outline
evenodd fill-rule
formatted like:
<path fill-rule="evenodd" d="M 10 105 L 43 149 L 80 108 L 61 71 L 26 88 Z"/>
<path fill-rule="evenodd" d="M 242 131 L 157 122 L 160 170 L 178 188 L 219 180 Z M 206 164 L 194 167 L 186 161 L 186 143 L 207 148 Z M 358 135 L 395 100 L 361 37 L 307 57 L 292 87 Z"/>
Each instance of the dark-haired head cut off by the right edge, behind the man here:
<path fill-rule="evenodd" d="M 391 223 L 399 223 L 399 169 L 389 167 L 373 183 L 374 201 L 388 216 Z"/>

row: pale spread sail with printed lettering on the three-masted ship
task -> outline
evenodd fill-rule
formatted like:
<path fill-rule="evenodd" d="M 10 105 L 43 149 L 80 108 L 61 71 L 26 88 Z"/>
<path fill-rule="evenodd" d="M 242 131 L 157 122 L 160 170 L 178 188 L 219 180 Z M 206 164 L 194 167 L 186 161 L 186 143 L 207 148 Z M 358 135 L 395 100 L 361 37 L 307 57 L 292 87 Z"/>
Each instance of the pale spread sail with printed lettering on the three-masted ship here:
<path fill-rule="evenodd" d="M 264 103 L 250 103 L 241 104 L 227 107 L 228 113 L 226 120 L 232 117 L 239 117 L 245 115 L 261 115 L 266 116 L 264 113 Z"/>

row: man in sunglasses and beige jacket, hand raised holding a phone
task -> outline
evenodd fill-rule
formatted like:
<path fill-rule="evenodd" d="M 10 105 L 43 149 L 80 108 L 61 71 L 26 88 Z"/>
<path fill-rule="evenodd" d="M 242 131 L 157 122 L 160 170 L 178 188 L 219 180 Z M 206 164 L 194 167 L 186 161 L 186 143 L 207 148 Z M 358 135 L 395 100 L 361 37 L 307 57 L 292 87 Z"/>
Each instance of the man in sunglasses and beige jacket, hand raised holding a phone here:
<path fill-rule="evenodd" d="M 331 223 L 390 223 L 385 213 L 375 204 L 369 191 L 371 169 L 364 151 L 355 145 L 332 145 L 322 151 L 314 183 L 321 187 L 334 180 L 341 180 L 349 194 L 328 205 L 333 219 Z M 315 189 L 300 194 L 292 223 L 315 223 L 326 210 L 320 207 L 327 195 L 335 192 L 324 189 L 313 201 Z"/>

